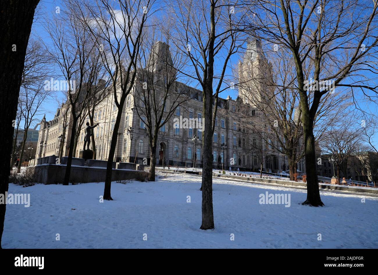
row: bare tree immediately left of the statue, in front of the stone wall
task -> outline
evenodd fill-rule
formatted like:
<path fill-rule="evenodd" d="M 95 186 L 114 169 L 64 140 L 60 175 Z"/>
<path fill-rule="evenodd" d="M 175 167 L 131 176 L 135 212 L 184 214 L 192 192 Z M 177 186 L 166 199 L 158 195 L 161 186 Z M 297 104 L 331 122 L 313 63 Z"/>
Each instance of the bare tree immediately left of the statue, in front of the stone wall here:
<path fill-rule="evenodd" d="M 71 173 L 71 163 L 75 147 L 78 121 L 87 110 L 87 101 L 95 86 L 98 68 L 90 62 L 93 53 L 99 54 L 99 49 L 90 37 L 90 32 L 82 25 L 71 9 L 67 13 L 60 12 L 53 24 L 46 24 L 46 31 L 53 41 L 53 47 L 46 47 L 51 57 L 59 66 L 67 83 L 67 102 L 72 117 L 70 149 L 68 151 L 67 167 L 63 185 L 68 185 Z"/>

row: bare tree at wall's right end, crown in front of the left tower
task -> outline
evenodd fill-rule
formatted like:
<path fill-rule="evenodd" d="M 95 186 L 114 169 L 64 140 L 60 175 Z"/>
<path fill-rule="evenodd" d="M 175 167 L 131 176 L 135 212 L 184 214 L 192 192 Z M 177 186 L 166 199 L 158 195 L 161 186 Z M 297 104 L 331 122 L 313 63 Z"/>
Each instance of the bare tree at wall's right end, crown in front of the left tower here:
<path fill-rule="evenodd" d="M 171 43 L 172 20 L 162 21 L 164 26 L 156 22 L 159 28 L 151 26 L 144 34 L 138 56 L 138 79 L 133 89 L 135 111 L 146 125 L 149 137 L 150 181 L 155 181 L 159 131 L 165 130 L 177 108 L 194 96 L 194 89 L 178 82 L 186 62 L 182 51 Z"/>

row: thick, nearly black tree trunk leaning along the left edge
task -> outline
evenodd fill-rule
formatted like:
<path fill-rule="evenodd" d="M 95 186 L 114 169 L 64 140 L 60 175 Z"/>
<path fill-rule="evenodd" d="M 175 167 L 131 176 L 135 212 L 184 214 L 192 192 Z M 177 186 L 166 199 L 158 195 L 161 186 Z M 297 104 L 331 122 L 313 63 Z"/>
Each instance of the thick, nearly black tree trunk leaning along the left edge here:
<path fill-rule="evenodd" d="M 16 116 L 21 76 L 24 67 L 26 47 L 28 45 L 34 11 L 39 0 L 6 0 L 2 1 L 0 12 L 0 83 L 2 100 L 0 100 L 0 193 L 8 191 L 10 174 L 10 157 L 12 150 L 14 118 Z M 12 51 L 12 48 L 15 51 Z M 6 205 L 0 204 L 0 248 L 4 229 Z"/>

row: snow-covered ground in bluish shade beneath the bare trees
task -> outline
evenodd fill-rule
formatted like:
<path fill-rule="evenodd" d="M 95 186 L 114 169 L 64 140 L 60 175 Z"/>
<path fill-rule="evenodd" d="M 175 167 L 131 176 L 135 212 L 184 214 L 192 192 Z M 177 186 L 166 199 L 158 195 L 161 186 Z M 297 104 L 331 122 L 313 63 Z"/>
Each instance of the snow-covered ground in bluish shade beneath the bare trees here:
<path fill-rule="evenodd" d="M 9 193 L 30 194 L 31 206 L 7 205 L 2 245 L 378 248 L 378 197 L 366 196 L 361 202 L 362 195 L 321 191 L 325 207 L 307 207 L 300 204 L 306 199 L 305 190 L 213 179 L 215 229 L 204 231 L 199 229 L 200 181 L 197 176 L 167 174 L 156 182 L 113 182 L 115 200 L 105 202 L 99 202 L 104 183 L 26 188 L 10 184 Z M 290 207 L 260 204 L 260 194 L 265 192 L 290 194 Z M 187 196 L 191 202 L 187 202 Z"/>

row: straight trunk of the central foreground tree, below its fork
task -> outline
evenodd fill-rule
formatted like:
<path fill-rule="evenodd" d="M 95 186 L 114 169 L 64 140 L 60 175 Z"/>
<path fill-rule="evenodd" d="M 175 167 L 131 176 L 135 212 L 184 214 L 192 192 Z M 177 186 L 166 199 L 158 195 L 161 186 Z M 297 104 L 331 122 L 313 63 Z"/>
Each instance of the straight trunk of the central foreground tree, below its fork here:
<path fill-rule="evenodd" d="M 203 93 L 204 131 L 202 140 L 202 224 L 201 229 L 214 228 L 212 204 L 212 88 L 207 87 Z"/>

